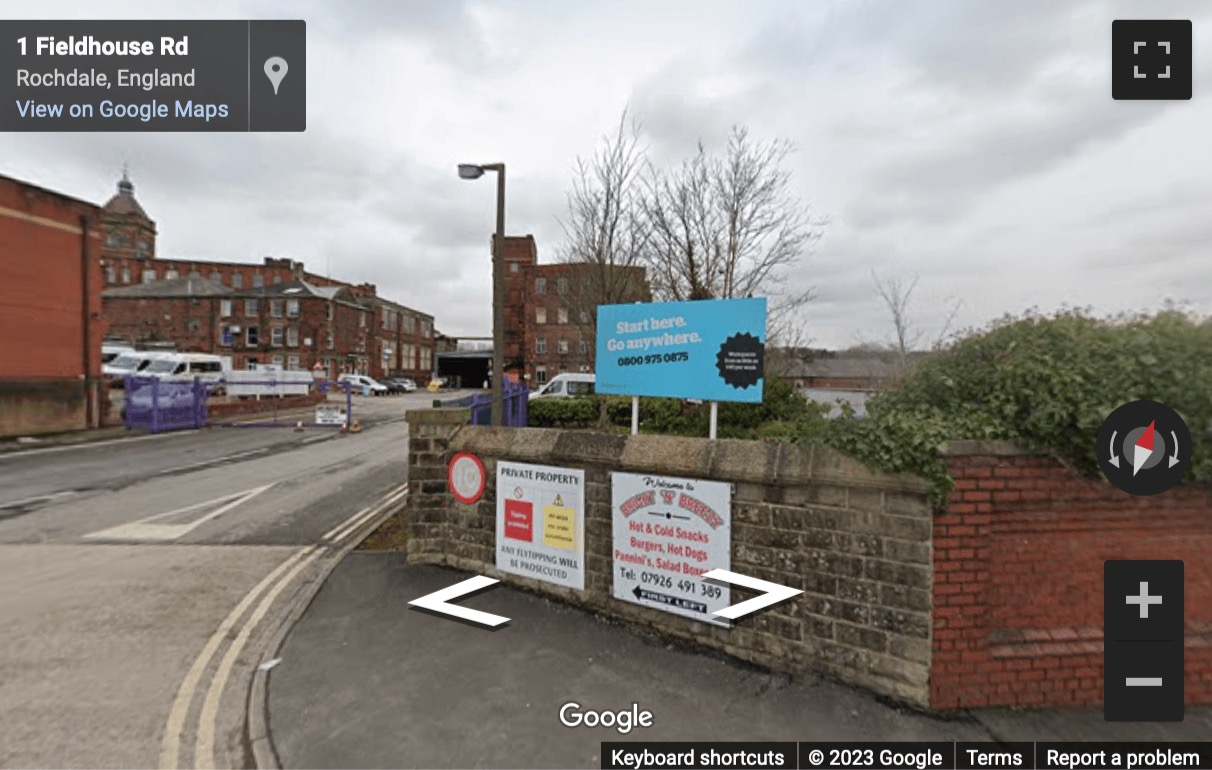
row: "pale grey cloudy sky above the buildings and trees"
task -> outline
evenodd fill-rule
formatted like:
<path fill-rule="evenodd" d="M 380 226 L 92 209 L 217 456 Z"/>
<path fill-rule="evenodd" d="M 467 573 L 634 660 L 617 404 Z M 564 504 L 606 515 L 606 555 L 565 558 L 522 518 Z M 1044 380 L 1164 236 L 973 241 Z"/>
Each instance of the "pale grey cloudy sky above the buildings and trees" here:
<path fill-rule="evenodd" d="M 164 257 L 302 259 L 488 335 L 494 184 L 554 261 L 578 155 L 623 109 L 657 164 L 733 124 L 797 148 L 823 238 L 793 281 L 816 344 L 1007 312 L 1212 313 L 1212 4 L 793 0 L 34 4 L 28 18 L 303 18 L 304 133 L 7 133 L 0 173 L 103 203 L 124 162 Z M 1115 18 L 1194 19 L 1194 98 L 1116 102 Z"/>

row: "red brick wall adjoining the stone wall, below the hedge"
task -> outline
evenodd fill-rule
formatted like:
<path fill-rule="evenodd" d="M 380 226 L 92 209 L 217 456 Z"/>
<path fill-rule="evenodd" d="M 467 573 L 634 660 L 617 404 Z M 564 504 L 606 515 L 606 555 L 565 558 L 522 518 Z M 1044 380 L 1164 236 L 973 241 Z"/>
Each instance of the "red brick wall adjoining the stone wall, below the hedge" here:
<path fill-rule="evenodd" d="M 1212 487 L 1138 498 L 1037 456 L 951 455 L 931 706 L 1103 701 L 1103 561 L 1182 559 L 1188 703 L 1212 703 Z"/>

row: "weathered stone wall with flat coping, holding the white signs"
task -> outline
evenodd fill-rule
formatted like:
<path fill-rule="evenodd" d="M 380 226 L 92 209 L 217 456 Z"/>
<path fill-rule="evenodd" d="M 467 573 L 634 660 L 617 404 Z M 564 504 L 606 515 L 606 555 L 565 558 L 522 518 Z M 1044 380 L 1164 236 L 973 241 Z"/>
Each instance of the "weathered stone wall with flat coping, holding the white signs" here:
<path fill-rule="evenodd" d="M 825 447 L 468 426 L 465 410 L 408 412 L 408 558 L 497 577 L 793 674 L 823 671 L 928 706 L 931 507 L 925 481 L 871 472 Z M 446 466 L 475 452 L 484 498 L 458 503 Z M 496 462 L 585 470 L 585 591 L 497 572 Z M 805 593 L 720 628 L 611 595 L 610 473 L 730 481 L 732 570 Z M 732 588 L 732 601 L 754 595 Z"/>

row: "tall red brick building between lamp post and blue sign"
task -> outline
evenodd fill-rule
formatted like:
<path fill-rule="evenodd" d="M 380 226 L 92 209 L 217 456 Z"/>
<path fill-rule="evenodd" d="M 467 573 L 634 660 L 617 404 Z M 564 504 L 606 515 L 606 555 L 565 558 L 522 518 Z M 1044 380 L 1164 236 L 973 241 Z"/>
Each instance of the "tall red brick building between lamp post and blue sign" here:
<path fill-rule="evenodd" d="M 594 371 L 595 323 L 601 296 L 594 268 L 539 264 L 533 235 L 505 238 L 505 371 L 538 387 L 561 372 Z M 641 267 L 614 268 L 611 293 L 650 302 Z"/>

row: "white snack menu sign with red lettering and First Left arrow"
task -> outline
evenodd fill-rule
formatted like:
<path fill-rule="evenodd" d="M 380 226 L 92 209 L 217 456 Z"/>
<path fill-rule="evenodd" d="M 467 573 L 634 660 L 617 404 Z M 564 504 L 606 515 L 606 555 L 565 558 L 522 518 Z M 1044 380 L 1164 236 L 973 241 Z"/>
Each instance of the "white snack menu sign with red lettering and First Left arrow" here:
<path fill-rule="evenodd" d="M 611 474 L 613 595 L 698 621 L 728 606 L 727 587 L 702 575 L 732 565 L 732 486 L 633 473 Z"/>

